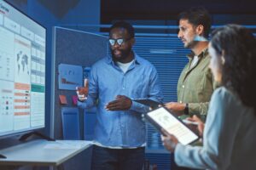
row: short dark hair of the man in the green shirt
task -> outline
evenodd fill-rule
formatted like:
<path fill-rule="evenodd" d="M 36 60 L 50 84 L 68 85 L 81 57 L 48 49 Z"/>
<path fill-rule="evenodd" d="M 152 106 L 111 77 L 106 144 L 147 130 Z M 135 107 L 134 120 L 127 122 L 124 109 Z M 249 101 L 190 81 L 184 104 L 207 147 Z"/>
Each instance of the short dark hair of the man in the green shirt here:
<path fill-rule="evenodd" d="M 211 31 L 211 16 L 206 8 L 194 7 L 178 15 L 178 20 L 188 20 L 193 26 L 204 26 L 203 37 L 209 37 Z"/>

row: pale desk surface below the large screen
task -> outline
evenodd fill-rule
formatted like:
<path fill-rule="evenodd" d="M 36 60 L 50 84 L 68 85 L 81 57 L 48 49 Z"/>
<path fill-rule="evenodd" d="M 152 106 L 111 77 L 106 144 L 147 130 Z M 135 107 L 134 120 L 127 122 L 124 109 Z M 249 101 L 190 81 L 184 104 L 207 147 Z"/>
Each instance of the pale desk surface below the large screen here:
<path fill-rule="evenodd" d="M 85 140 L 32 140 L 0 150 L 0 154 L 7 157 L 0 159 L 0 165 L 58 166 L 91 144 Z"/>

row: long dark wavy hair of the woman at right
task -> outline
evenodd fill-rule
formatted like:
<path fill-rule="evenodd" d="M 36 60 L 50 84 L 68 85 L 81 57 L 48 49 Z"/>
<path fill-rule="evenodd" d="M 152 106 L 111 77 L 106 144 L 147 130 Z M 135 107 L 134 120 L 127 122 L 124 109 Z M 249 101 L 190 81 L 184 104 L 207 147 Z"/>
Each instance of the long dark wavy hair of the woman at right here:
<path fill-rule="evenodd" d="M 256 39 L 247 28 L 227 25 L 212 32 L 212 48 L 224 51 L 222 83 L 256 114 Z M 220 55 L 219 55 L 220 56 Z"/>

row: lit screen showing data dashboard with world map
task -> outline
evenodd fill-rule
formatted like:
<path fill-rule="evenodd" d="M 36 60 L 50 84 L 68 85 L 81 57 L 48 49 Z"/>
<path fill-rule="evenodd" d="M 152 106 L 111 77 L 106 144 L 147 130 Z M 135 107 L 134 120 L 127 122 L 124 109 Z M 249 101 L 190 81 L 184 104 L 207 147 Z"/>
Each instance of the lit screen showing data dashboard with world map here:
<path fill-rule="evenodd" d="M 0 0 L 0 137 L 45 126 L 46 29 Z"/>

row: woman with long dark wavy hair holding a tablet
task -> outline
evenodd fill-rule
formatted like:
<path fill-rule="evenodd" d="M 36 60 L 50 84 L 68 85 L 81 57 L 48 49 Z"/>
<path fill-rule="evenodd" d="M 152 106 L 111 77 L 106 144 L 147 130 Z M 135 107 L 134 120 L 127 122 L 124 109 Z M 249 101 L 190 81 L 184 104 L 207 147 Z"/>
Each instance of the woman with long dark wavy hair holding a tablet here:
<path fill-rule="evenodd" d="M 181 167 L 256 169 L 256 40 L 246 28 L 227 25 L 213 31 L 209 53 L 223 86 L 212 94 L 203 145 L 180 144 L 168 133 L 163 144 Z"/>

